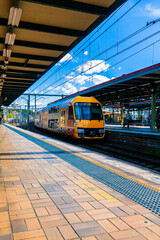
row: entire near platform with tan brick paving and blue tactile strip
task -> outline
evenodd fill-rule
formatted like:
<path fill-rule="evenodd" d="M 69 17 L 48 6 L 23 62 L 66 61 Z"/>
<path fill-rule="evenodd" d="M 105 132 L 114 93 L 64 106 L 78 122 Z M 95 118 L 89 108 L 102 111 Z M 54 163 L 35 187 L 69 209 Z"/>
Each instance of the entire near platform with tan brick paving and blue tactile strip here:
<path fill-rule="evenodd" d="M 0 240 L 158 240 L 160 175 L 0 125 Z"/>

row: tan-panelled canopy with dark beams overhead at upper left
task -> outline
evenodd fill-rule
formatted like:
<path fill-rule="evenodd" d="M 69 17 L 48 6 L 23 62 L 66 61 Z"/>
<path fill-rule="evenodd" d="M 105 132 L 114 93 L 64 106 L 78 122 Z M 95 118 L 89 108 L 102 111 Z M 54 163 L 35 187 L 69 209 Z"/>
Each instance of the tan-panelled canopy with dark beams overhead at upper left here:
<path fill-rule="evenodd" d="M 0 105 L 11 104 L 125 1 L 0 0 Z M 22 9 L 18 27 L 8 22 L 13 6 Z M 7 33 L 15 37 L 10 44 Z"/>

